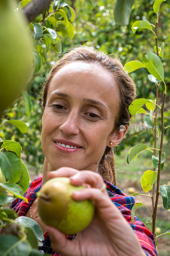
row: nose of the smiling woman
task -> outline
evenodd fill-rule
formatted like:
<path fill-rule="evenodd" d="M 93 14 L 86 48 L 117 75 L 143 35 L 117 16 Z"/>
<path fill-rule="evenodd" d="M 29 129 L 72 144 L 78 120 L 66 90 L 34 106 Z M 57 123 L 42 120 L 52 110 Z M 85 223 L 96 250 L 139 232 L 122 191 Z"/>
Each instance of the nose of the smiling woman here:
<path fill-rule="evenodd" d="M 60 125 L 60 131 L 65 135 L 77 135 L 79 133 L 79 120 L 77 112 L 70 112 L 63 118 L 63 124 Z"/>

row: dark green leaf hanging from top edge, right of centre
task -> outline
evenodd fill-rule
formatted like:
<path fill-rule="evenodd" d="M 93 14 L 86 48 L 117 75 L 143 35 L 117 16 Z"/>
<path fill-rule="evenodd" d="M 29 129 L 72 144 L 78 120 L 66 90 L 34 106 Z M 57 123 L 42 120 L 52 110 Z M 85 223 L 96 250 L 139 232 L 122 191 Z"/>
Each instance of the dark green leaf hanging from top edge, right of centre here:
<path fill-rule="evenodd" d="M 115 22 L 121 26 L 129 24 L 130 13 L 134 0 L 116 0 L 114 7 Z"/>

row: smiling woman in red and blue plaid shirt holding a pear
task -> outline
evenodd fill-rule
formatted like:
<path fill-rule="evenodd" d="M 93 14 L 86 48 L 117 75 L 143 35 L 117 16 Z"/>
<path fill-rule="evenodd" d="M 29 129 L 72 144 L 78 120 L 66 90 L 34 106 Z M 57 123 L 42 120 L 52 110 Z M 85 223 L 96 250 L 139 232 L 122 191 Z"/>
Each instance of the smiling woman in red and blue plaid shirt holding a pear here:
<path fill-rule="evenodd" d="M 134 197 L 115 187 L 113 147 L 128 129 L 128 107 L 135 95 L 135 84 L 121 62 L 91 47 L 74 47 L 52 68 L 43 88 L 43 174 L 25 193 L 28 204 L 16 199 L 11 205 L 19 216 L 33 218 L 41 226 L 45 237 L 42 254 L 157 255 L 153 234 L 138 218 L 131 222 Z M 72 198 L 95 202 L 92 222 L 77 235 L 65 236 L 45 226 L 38 215 L 35 194 L 54 177 L 70 177 L 73 185 L 85 184 Z"/>

